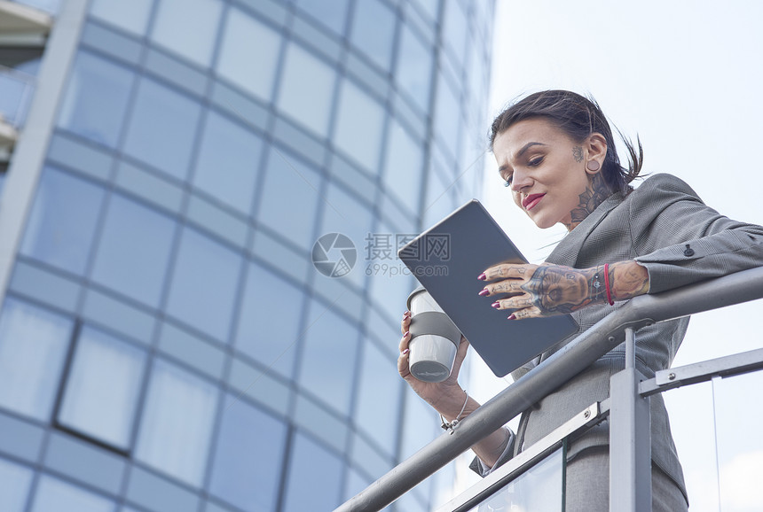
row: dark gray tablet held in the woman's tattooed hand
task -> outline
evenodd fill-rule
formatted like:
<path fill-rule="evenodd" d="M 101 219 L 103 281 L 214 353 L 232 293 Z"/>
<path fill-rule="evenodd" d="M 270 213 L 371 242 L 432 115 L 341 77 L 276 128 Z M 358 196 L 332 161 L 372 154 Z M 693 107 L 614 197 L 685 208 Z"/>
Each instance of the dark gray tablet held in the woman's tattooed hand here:
<path fill-rule="evenodd" d="M 526 263 L 484 206 L 473 199 L 397 252 L 476 353 L 499 377 L 578 330 L 570 314 L 511 321 L 481 297 L 477 275 L 499 263 Z"/>

